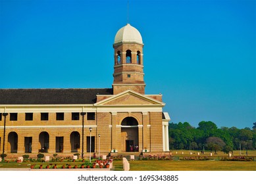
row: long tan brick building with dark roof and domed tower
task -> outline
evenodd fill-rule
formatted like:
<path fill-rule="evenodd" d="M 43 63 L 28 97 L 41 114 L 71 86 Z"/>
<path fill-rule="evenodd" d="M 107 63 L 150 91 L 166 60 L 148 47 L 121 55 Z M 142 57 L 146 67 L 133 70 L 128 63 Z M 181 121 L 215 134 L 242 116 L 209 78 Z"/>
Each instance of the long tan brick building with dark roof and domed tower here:
<path fill-rule="evenodd" d="M 145 95 L 140 32 L 127 24 L 113 47 L 112 88 L 0 89 L 1 153 L 168 151 L 162 95 Z"/>

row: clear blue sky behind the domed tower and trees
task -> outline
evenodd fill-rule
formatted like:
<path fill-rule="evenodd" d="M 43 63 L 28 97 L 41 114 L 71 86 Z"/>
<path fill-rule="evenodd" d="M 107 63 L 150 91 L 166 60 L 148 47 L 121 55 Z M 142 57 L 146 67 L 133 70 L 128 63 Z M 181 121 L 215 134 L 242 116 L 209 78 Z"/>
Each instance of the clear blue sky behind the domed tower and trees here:
<path fill-rule="evenodd" d="M 172 122 L 256 122 L 255 1 L 135 1 L 147 94 Z M 127 1 L 0 0 L 0 88 L 102 88 Z"/>

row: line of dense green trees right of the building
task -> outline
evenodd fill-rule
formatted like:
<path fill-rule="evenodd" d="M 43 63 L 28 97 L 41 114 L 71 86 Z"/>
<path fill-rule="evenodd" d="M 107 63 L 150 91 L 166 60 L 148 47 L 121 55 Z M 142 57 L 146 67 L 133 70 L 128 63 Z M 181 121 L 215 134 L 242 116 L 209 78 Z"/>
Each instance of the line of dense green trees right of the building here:
<path fill-rule="evenodd" d="M 187 150 L 255 150 L 256 149 L 256 123 L 253 129 L 245 127 L 220 127 L 213 122 L 199 122 L 198 127 L 188 122 L 169 124 L 169 147 Z"/>

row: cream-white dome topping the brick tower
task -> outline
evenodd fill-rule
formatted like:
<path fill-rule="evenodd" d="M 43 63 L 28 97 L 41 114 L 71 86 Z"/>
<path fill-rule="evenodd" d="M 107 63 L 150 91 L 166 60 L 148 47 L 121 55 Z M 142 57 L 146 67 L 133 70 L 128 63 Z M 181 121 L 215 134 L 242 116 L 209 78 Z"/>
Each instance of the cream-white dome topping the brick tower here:
<path fill-rule="evenodd" d="M 115 36 L 114 44 L 127 42 L 143 44 L 140 32 L 130 24 L 127 24 L 118 30 Z"/>

